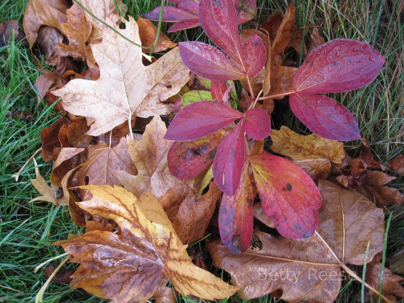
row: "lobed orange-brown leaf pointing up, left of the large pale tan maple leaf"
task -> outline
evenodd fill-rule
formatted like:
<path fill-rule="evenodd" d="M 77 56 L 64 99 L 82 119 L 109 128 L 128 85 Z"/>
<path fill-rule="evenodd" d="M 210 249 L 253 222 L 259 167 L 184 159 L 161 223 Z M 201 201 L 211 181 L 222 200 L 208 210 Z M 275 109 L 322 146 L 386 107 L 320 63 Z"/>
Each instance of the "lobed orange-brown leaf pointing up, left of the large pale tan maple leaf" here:
<path fill-rule="evenodd" d="M 91 23 L 85 21 L 83 9 L 77 3 L 73 2 L 72 7 L 67 10 L 67 22 L 61 24 L 61 29 L 69 39 L 69 44 L 58 43 L 57 54 L 85 60 L 89 67 L 95 67 L 91 46 L 87 44 Z"/>

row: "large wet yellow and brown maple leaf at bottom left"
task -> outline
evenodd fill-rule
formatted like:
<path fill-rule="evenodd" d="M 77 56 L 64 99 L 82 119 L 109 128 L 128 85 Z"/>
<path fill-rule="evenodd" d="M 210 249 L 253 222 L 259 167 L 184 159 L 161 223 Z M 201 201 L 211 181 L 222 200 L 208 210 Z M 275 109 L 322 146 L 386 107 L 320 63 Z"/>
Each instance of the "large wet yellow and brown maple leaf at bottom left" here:
<path fill-rule="evenodd" d="M 114 302 L 147 300 L 163 275 L 184 295 L 210 300 L 227 297 L 239 289 L 192 264 L 176 233 L 159 223 L 169 222 L 161 207 L 156 210 L 159 215 L 150 221 L 138 199 L 122 187 L 84 188 L 91 191 L 93 198 L 78 203 L 80 208 L 115 221 L 121 233 L 91 231 L 77 239 L 55 243 L 80 263 L 72 275 L 72 287 L 82 287 Z M 158 205 L 157 202 L 154 207 Z M 148 283 L 144 283 L 146 279 Z"/>

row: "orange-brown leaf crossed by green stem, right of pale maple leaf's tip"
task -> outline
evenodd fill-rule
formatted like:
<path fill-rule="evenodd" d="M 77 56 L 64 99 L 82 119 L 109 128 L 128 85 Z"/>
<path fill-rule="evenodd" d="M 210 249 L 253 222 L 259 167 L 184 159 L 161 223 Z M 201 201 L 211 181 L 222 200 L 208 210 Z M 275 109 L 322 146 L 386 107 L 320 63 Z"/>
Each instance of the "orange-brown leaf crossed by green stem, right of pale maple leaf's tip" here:
<path fill-rule="evenodd" d="M 139 27 L 140 41 L 143 46 L 151 46 L 155 43 L 157 36 L 157 27 L 150 20 L 138 17 L 137 26 Z M 160 53 L 166 51 L 168 48 L 173 48 L 177 46 L 177 43 L 173 43 L 169 37 L 164 33 L 160 34 L 159 42 L 156 45 L 155 53 Z M 150 49 L 143 48 L 143 52 L 149 53 Z"/>

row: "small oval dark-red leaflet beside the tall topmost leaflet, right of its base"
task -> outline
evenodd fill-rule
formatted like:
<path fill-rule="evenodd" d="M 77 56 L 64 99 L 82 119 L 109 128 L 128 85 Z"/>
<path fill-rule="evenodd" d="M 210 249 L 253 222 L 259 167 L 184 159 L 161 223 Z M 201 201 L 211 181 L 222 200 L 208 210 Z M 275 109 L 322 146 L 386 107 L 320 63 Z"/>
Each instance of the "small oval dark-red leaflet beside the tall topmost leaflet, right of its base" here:
<path fill-rule="evenodd" d="M 259 35 L 245 40 L 241 56 L 244 69 L 249 77 L 257 75 L 267 62 L 267 51 Z"/>

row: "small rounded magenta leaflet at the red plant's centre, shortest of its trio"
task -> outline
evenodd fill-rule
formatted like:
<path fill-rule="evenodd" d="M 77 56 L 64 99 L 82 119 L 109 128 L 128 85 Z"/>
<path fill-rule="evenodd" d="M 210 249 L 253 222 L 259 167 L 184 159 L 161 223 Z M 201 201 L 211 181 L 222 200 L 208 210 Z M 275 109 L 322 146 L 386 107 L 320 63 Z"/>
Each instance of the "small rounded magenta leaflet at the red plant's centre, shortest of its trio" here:
<path fill-rule="evenodd" d="M 271 133 L 271 120 L 262 109 L 251 109 L 245 112 L 245 132 L 254 140 L 263 140 Z"/>

